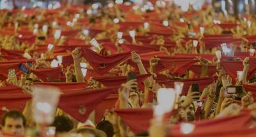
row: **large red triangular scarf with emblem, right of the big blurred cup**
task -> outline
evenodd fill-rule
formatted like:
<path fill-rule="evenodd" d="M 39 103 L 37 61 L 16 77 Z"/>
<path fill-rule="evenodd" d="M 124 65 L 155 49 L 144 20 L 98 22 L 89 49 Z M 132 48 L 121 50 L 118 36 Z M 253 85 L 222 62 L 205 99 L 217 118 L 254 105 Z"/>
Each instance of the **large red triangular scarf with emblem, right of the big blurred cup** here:
<path fill-rule="evenodd" d="M 58 107 L 64 112 L 77 119 L 79 122 L 85 122 L 90 113 L 101 103 L 109 94 L 115 92 L 118 87 L 109 87 L 93 90 L 73 90 L 61 94 Z"/>

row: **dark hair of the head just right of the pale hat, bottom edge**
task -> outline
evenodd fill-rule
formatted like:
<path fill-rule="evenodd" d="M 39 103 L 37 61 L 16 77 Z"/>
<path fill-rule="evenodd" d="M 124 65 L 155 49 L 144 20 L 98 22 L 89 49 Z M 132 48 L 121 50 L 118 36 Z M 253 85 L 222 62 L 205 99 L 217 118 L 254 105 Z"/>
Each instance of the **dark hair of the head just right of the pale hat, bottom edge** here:
<path fill-rule="evenodd" d="M 108 120 L 102 120 L 96 126 L 97 129 L 104 131 L 108 137 L 112 137 L 114 133 L 114 127 Z"/>

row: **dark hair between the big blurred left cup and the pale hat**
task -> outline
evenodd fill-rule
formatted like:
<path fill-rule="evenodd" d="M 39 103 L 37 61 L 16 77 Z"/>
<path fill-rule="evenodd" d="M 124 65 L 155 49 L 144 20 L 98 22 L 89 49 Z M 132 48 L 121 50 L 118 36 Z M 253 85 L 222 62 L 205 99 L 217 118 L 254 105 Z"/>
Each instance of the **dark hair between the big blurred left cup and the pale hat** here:
<path fill-rule="evenodd" d="M 51 126 L 56 127 L 56 133 L 68 132 L 73 129 L 74 123 L 68 117 L 63 115 L 56 116 Z"/>

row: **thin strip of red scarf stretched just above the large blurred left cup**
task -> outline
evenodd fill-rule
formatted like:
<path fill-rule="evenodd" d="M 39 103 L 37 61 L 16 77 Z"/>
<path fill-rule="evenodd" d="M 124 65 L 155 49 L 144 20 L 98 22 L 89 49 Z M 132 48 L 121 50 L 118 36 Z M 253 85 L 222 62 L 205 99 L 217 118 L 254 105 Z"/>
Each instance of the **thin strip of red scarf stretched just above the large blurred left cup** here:
<path fill-rule="evenodd" d="M 58 87 L 60 90 L 84 89 L 87 87 L 85 82 L 35 82 L 33 85 L 49 85 Z"/>

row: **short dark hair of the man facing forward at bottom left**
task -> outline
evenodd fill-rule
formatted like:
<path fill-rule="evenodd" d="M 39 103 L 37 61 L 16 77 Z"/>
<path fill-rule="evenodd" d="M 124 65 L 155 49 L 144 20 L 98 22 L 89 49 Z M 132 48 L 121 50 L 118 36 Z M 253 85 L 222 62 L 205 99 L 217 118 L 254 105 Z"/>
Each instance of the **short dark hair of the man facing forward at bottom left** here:
<path fill-rule="evenodd" d="M 9 112 L 4 113 L 3 117 L 2 117 L 2 125 L 5 125 L 5 120 L 6 118 L 12 118 L 12 119 L 22 119 L 22 124 L 25 127 L 26 126 L 26 118 L 24 117 L 24 115 L 17 111 L 17 110 L 10 110 Z"/>

